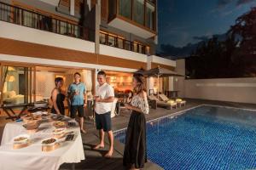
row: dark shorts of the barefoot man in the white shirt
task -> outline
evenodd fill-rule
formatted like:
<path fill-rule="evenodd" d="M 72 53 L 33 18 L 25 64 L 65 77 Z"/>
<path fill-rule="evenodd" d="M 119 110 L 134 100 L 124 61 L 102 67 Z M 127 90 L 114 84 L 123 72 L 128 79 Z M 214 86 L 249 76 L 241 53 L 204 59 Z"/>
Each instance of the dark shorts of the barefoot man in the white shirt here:
<path fill-rule="evenodd" d="M 104 114 L 95 114 L 96 129 L 103 129 L 104 132 L 111 131 L 111 116 L 110 111 Z"/>

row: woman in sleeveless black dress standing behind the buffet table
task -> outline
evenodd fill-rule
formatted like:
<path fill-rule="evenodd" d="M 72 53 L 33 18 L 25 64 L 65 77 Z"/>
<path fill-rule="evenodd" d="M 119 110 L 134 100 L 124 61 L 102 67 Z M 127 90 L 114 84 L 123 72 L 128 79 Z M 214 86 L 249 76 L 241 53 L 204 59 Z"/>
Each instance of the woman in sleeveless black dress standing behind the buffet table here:
<path fill-rule="evenodd" d="M 63 85 L 63 78 L 56 77 L 55 78 L 55 88 L 51 92 L 51 99 L 53 102 L 53 107 L 51 109 L 51 112 L 54 114 L 65 115 L 64 99 L 66 96 L 61 91 L 62 85 Z"/>

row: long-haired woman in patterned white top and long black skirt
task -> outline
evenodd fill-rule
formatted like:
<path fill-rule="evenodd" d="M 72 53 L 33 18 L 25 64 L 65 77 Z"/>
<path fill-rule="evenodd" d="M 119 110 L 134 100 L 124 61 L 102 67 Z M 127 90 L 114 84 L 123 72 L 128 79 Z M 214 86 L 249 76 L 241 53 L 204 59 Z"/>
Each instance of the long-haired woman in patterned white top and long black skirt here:
<path fill-rule="evenodd" d="M 131 104 L 125 104 L 125 108 L 131 110 L 131 117 L 126 132 L 123 164 L 138 169 L 147 162 L 145 114 L 148 114 L 149 109 L 143 75 L 134 74 L 132 85 L 134 94 Z"/>

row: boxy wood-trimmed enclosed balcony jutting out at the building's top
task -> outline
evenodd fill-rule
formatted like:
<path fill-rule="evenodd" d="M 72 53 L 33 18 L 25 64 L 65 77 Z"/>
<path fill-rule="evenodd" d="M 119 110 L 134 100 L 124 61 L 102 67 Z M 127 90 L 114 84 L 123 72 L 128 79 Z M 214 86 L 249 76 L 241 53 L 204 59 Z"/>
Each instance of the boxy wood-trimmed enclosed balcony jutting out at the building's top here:
<path fill-rule="evenodd" d="M 108 25 L 148 39 L 156 35 L 156 5 L 151 0 L 109 0 Z"/>

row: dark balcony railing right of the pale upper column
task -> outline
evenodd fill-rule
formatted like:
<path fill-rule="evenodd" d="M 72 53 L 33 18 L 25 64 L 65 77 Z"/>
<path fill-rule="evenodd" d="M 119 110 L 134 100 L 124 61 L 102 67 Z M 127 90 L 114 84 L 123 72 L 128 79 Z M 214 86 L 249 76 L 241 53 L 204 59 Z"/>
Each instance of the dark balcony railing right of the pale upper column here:
<path fill-rule="evenodd" d="M 114 48 L 121 48 L 129 51 L 137 52 L 140 54 L 148 54 L 148 49 L 149 49 L 147 48 L 147 46 L 142 45 L 140 43 L 131 42 L 121 37 L 112 36 L 102 31 L 100 33 L 100 43 L 108 46 L 112 46 Z"/>

